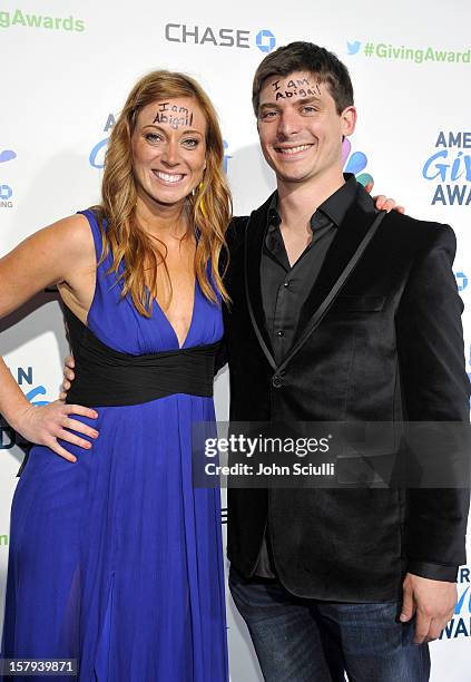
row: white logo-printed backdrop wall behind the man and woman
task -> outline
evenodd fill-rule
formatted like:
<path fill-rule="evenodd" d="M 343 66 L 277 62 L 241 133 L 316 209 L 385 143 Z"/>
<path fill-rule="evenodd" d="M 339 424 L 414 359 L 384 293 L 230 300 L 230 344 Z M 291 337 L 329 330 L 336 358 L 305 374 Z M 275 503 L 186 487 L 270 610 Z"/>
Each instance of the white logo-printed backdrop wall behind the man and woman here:
<path fill-rule="evenodd" d="M 359 125 L 345 166 L 371 175 L 375 192 L 395 197 L 409 214 L 453 226 L 455 276 L 469 306 L 470 26 L 468 0 L 0 0 L 0 255 L 98 201 L 115 117 L 134 82 L 155 68 L 202 82 L 220 116 L 236 213 L 258 205 L 274 177 L 258 150 L 252 77 L 267 52 L 303 39 L 330 48 L 351 70 Z M 463 321 L 471 372 L 469 312 Z M 67 354 L 53 294 L 41 294 L 0 325 L 0 352 L 28 399 L 53 400 Z M 227 373 L 217 380 L 216 402 L 226 419 Z M 0 627 L 21 459 L 21 442 L 0 422 Z M 432 645 L 434 682 L 470 679 L 470 579 L 463 567 L 455 615 Z M 262 680 L 229 601 L 228 614 L 233 682 Z"/>

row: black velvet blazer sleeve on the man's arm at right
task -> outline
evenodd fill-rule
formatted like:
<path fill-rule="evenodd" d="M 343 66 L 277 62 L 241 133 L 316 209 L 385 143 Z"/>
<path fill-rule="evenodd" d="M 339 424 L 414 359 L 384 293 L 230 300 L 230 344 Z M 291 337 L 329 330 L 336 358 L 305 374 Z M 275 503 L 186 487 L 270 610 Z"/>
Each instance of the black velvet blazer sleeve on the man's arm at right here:
<path fill-rule="evenodd" d="M 432 226 L 429 246 L 416 257 L 399 305 L 396 342 L 409 421 L 469 423 L 463 303 L 452 271 L 455 247 L 450 226 Z M 448 455 L 443 451 L 443 467 L 451 466 Z M 455 582 L 459 565 L 465 563 L 469 503 L 465 487 L 408 489 L 408 572 Z"/>

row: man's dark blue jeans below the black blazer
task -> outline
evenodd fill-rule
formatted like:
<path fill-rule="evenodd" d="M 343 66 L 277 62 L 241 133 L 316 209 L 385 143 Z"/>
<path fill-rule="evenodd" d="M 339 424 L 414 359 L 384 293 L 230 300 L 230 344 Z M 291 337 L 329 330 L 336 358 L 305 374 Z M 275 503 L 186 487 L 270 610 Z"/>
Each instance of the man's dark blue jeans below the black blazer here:
<path fill-rule="evenodd" d="M 266 682 L 426 682 L 426 644 L 413 644 L 414 620 L 401 604 L 320 602 L 292 595 L 276 581 L 229 574 Z"/>

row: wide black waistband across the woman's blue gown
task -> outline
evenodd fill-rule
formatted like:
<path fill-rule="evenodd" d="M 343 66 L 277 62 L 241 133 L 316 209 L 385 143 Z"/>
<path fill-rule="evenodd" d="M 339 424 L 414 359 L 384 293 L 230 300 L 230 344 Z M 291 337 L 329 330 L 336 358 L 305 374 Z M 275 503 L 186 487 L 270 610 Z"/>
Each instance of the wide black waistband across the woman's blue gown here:
<path fill-rule="evenodd" d="M 66 402 L 107 407 L 138 405 L 174 393 L 213 396 L 222 341 L 131 355 L 102 343 L 66 305 L 63 312 L 76 362 L 76 379 Z"/>

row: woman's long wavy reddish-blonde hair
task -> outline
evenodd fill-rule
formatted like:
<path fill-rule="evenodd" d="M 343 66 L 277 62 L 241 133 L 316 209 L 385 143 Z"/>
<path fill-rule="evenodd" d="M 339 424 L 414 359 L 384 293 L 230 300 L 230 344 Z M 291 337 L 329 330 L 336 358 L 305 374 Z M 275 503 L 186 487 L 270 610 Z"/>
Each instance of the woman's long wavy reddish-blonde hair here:
<path fill-rule="evenodd" d="M 135 85 L 111 130 L 105 157 L 101 204 L 94 207 L 102 235 L 100 262 L 111 250 L 112 265 L 108 272 L 118 273 L 124 263 L 122 272 L 118 275 L 118 280 L 122 280 L 122 296 L 129 294 L 139 313 L 147 318 L 151 314 L 154 299 L 157 299 L 157 266 L 164 266 L 167 277 L 168 270 L 165 245 L 164 251 L 156 247 L 154 238 L 137 223 L 131 135 L 144 107 L 171 97 L 195 98 L 206 118 L 206 169 L 194 195 L 186 198 L 190 227 L 199 233 L 195 275 L 208 300 L 217 300 L 212 279 L 222 299 L 228 301 L 218 264 L 222 251 L 226 251 L 225 233 L 232 216 L 232 198 L 223 169 L 224 143 L 215 108 L 203 88 L 189 76 L 176 71 L 151 71 Z M 104 220 L 107 221 L 106 231 Z M 210 279 L 207 269 L 209 261 Z M 145 264 L 150 265 L 147 285 Z"/>

